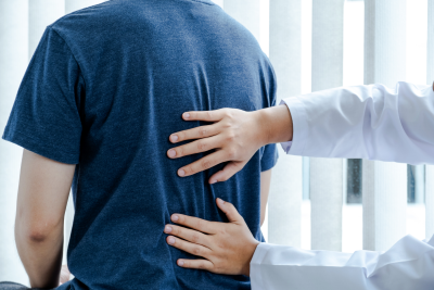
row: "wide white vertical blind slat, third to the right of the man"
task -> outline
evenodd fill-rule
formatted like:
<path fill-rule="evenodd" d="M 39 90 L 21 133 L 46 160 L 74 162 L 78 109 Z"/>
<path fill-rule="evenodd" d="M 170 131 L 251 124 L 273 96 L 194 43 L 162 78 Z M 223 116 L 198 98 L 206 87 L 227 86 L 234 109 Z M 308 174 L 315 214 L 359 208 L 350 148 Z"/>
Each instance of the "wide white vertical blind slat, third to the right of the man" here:
<path fill-rule="evenodd" d="M 406 79 L 406 0 L 365 1 L 365 84 Z M 363 161 L 363 249 L 384 251 L 406 234 L 407 165 Z"/>

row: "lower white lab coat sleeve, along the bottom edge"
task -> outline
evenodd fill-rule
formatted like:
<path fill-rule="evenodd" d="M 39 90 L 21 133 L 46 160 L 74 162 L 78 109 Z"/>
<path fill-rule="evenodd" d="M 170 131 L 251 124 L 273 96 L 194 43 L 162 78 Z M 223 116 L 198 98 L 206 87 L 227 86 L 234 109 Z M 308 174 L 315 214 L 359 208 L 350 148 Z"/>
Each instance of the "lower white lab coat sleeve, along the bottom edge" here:
<path fill-rule="evenodd" d="M 386 252 L 305 251 L 260 243 L 251 262 L 253 290 L 427 290 L 434 285 L 434 236 L 406 236 Z"/>

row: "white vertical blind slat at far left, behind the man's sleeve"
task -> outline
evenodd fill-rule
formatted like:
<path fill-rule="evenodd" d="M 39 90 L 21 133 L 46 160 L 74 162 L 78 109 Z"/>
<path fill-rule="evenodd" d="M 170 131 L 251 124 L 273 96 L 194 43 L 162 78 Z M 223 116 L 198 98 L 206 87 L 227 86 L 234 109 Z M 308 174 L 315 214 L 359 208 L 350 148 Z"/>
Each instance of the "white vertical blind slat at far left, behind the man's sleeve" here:
<path fill-rule="evenodd" d="M 0 1 L 0 128 L 4 129 L 28 59 L 28 0 Z M 28 285 L 14 223 L 23 149 L 0 139 L 0 280 Z"/>

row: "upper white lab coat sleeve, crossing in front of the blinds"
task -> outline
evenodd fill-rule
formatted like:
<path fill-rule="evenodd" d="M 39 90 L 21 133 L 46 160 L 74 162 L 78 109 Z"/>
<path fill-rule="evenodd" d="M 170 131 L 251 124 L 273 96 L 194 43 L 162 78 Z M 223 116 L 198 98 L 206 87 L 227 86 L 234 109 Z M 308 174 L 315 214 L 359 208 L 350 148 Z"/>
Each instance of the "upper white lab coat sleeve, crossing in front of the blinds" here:
<path fill-rule="evenodd" d="M 289 154 L 434 164 L 431 86 L 342 87 L 282 102 L 293 119 Z"/>

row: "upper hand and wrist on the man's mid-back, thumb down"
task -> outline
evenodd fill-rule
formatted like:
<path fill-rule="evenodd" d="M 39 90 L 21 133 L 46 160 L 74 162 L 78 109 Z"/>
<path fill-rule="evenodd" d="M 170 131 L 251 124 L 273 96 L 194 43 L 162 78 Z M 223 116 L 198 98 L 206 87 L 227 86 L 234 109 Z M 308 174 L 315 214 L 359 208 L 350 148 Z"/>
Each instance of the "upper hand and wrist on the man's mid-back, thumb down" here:
<path fill-rule="evenodd" d="M 215 149 L 216 152 L 178 169 L 178 175 L 186 177 L 228 162 L 222 171 L 209 178 L 209 184 L 228 180 L 244 167 L 259 148 L 291 141 L 293 135 L 292 117 L 286 105 L 254 112 L 237 109 L 188 112 L 182 118 L 215 122 L 213 125 L 170 135 L 169 140 L 173 143 L 199 140 L 167 151 L 167 156 L 178 159 Z"/>

